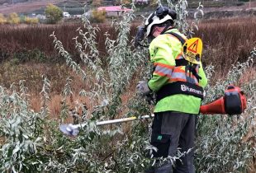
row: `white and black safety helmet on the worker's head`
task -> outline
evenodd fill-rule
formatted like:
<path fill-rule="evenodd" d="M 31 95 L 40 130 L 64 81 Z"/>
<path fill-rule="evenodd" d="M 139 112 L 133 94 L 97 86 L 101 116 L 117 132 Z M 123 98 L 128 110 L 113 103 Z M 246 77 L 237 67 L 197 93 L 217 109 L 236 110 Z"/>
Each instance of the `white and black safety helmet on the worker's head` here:
<path fill-rule="evenodd" d="M 158 7 L 145 21 L 145 33 L 149 36 L 152 26 L 176 19 L 177 13 L 168 7 Z"/>

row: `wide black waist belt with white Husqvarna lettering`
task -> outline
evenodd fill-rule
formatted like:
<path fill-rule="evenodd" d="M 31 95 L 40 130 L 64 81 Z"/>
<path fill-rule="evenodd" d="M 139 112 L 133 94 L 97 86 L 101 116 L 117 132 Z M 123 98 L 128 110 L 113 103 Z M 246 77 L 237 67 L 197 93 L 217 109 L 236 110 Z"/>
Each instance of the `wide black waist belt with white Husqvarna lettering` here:
<path fill-rule="evenodd" d="M 172 96 L 176 94 L 185 94 L 190 96 L 196 96 L 203 99 L 203 88 L 189 82 L 173 82 L 163 86 L 156 96 L 156 101 L 164 99 L 166 96 Z"/>

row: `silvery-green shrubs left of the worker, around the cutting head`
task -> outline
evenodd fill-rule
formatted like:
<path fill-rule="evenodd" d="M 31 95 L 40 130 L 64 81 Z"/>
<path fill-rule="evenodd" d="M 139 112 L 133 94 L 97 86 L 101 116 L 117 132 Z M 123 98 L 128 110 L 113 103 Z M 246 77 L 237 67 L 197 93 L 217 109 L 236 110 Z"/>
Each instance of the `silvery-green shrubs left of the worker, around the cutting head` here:
<path fill-rule="evenodd" d="M 0 144 L 0 171 L 135 172 L 144 169 L 143 164 L 136 163 L 142 161 L 146 164 L 148 160 L 143 158 L 143 147 L 147 144 L 145 138 L 148 136 L 140 136 L 141 129 L 147 131 L 145 124 L 133 124 L 130 128 L 134 129 L 133 133 L 125 136 L 121 136 L 121 129 L 118 127 L 111 130 L 99 129 L 95 124 L 97 119 L 115 118 L 119 115 L 121 94 L 126 91 L 135 69 L 141 67 L 140 64 L 147 59 L 145 51 L 133 49 L 130 41 L 126 39 L 130 34 L 131 20 L 130 15 L 121 23 L 115 24 L 116 30 L 119 31 L 116 40 L 111 40 L 106 34 L 107 67 L 102 67 L 95 41 L 99 30 L 89 25 L 87 21 L 84 21 L 86 31 L 78 29 L 78 37 L 74 39 L 76 49 L 83 60 L 81 64 L 74 62 L 57 37 L 52 35 L 55 39 L 55 48 L 64 56 L 67 65 L 81 75 L 86 84 L 92 86 L 86 91 L 80 91 L 81 96 L 90 98 L 89 104 L 96 105 L 92 106 L 92 111 L 83 108 L 81 118 L 88 122 L 88 126 L 84 127 L 81 131 L 83 135 L 81 133 L 78 138 L 73 140 L 65 137 L 56 128 L 57 122 L 47 119 L 50 115 L 50 81 L 46 77 L 40 92 L 42 106 L 38 113 L 28 107 L 30 101 L 23 81 L 20 82 L 19 91 L 14 85 L 10 92 L 0 87 L 0 101 L 3 101 L 0 104 L 0 136 L 5 139 L 5 142 Z M 64 103 L 65 98 L 72 93 L 71 84 L 73 82 L 68 80 L 64 86 Z M 135 92 L 133 96 L 136 96 Z M 149 109 L 140 109 L 140 113 L 135 110 L 136 105 L 140 107 L 144 104 L 145 101 L 131 98 L 129 107 L 132 114 L 148 112 Z M 65 119 L 63 115 L 62 122 Z M 138 137 L 141 138 L 136 139 Z M 120 143 L 121 146 L 114 143 Z"/>

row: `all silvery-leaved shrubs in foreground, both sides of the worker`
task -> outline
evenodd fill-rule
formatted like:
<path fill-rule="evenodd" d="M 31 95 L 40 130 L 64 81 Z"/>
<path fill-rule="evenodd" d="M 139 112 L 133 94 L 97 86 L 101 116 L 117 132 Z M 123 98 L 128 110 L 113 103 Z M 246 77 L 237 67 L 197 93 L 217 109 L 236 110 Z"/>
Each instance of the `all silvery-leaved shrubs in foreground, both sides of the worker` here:
<path fill-rule="evenodd" d="M 177 6 L 178 9 L 180 9 Z M 121 128 L 119 125 L 98 127 L 97 121 L 115 119 L 131 115 L 149 114 L 149 105 L 135 91 L 129 95 L 129 101 L 122 102 L 137 79 L 150 76 L 147 49 L 134 49 L 128 39 L 133 14 L 126 14 L 121 22 L 114 22 L 116 38 L 105 34 L 104 56 L 107 63 L 102 66 L 102 58 L 97 49 L 96 37 L 99 28 L 91 26 L 83 19 L 84 30 L 78 28 L 75 48 L 81 63 L 76 63 L 55 33 L 55 49 L 61 54 L 73 72 L 76 72 L 88 88 L 81 88 L 79 95 L 88 98 L 88 105 L 77 102 L 75 110 L 82 109 L 80 122 L 84 124 L 77 138 L 68 138 L 59 132 L 59 122 L 67 122 L 67 98 L 72 96 L 70 78 L 63 90 L 63 106 L 58 120 L 50 119 L 50 81 L 43 79 L 40 92 L 41 109 L 30 109 L 30 100 L 26 83 L 10 88 L 0 86 L 0 171 L 1 172 L 142 172 L 149 166 L 150 159 L 145 157 L 152 147 L 149 146 L 150 123 L 141 120 Z M 184 18 L 179 18 L 184 20 Z M 187 27 L 178 23 L 181 27 Z M 186 28 L 184 28 L 187 31 Z M 256 49 L 245 63 L 237 63 L 227 74 L 227 80 L 216 86 L 206 88 L 206 99 L 211 101 L 222 94 L 230 82 L 237 82 L 249 68 L 256 56 Z M 39 58 L 42 56 L 39 55 Z M 211 78 L 211 66 L 206 68 Z M 61 76 L 61 75 L 59 75 Z M 211 84 L 211 81 L 209 82 Z M 134 88 L 135 86 L 133 86 Z M 248 94 L 248 110 L 241 119 L 225 116 L 203 116 L 198 124 L 197 172 L 246 172 L 246 161 L 254 159 L 254 145 L 239 143 L 242 135 L 248 131 L 248 125 L 254 125 L 256 82 L 243 85 Z M 211 127 L 211 129 L 209 129 Z M 254 132 L 255 133 L 255 132 Z M 254 140 L 255 134 L 253 133 Z M 253 143 L 253 142 L 252 142 Z M 254 143 L 253 143 L 254 144 Z M 244 155 L 244 156 L 243 156 Z"/>

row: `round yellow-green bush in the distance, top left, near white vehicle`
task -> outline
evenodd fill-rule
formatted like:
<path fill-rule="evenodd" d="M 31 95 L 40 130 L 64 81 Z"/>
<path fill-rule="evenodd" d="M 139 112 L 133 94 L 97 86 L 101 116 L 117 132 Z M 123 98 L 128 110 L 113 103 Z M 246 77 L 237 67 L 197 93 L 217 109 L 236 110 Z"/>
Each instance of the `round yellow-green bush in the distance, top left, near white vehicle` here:
<path fill-rule="evenodd" d="M 52 24 L 57 23 L 63 18 L 62 10 L 53 4 L 49 4 L 45 8 L 45 15 L 48 18 L 49 23 L 52 23 Z"/>

